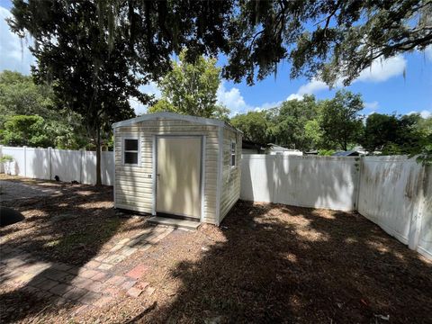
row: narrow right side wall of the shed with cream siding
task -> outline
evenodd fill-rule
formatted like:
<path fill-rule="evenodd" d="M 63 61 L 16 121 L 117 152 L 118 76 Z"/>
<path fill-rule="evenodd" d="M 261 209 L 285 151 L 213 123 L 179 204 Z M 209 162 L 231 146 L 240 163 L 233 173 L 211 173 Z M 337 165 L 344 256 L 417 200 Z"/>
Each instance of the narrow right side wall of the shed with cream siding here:
<path fill-rule="evenodd" d="M 236 140 L 236 166 L 230 166 L 231 140 Z M 241 134 L 229 128 L 223 129 L 222 187 L 220 194 L 220 221 L 228 214 L 240 197 Z"/>

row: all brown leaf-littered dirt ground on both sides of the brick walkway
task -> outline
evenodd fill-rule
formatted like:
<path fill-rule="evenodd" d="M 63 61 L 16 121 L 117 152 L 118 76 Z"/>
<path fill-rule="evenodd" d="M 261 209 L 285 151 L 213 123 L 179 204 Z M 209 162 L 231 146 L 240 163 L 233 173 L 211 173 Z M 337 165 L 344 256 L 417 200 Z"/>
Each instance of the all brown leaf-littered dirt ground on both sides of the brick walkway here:
<path fill-rule="evenodd" d="M 29 182 L 59 193 L 2 203 L 26 219 L 0 247 L 82 265 L 147 226 L 112 209 L 110 187 Z M 238 202 L 220 228 L 175 230 L 124 262 L 138 261 L 150 296 L 75 315 L 2 285 L 4 321 L 432 323 L 432 262 L 356 212 Z"/>

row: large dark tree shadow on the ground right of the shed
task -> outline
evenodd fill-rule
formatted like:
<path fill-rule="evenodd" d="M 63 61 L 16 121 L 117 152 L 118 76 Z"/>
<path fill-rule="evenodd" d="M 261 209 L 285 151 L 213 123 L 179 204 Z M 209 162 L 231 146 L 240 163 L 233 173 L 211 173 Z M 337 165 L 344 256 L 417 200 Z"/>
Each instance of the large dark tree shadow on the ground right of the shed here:
<path fill-rule="evenodd" d="M 175 298 L 134 320 L 432 321 L 432 264 L 355 212 L 238 202 L 220 230 L 171 268 Z"/>

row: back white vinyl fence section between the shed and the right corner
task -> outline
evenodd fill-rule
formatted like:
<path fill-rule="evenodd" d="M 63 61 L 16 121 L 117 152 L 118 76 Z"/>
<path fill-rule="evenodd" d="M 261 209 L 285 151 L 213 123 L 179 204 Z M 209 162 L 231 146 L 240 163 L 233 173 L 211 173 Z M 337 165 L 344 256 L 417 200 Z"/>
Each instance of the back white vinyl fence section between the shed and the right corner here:
<path fill-rule="evenodd" d="M 359 157 L 242 156 L 240 198 L 356 210 Z"/>

